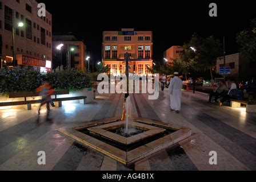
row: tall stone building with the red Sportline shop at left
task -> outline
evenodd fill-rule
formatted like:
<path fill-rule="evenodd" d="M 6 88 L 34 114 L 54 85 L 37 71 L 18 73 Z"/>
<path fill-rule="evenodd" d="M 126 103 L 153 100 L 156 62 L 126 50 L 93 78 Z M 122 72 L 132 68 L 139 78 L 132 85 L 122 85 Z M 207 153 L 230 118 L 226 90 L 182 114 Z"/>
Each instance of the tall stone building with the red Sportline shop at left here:
<path fill-rule="evenodd" d="M 51 14 L 39 17 L 37 6 L 35 0 L 0 0 L 1 67 L 11 67 L 13 60 L 21 67 L 51 67 Z"/>

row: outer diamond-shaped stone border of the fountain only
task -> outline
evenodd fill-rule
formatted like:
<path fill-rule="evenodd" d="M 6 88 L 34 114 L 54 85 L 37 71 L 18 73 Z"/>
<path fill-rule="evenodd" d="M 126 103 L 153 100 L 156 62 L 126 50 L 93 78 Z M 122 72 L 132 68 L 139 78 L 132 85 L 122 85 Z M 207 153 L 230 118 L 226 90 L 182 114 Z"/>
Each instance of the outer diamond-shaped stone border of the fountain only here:
<path fill-rule="evenodd" d="M 65 127 L 65 128 L 59 129 L 58 131 L 62 134 L 67 135 L 68 137 L 73 138 L 77 142 L 82 143 L 87 147 L 93 148 L 94 150 L 99 151 L 102 154 L 105 154 L 110 158 L 113 158 L 114 160 L 117 160 L 118 162 L 123 163 L 127 166 L 129 166 L 130 164 L 133 164 L 134 162 L 137 162 L 138 160 L 146 158 L 147 156 L 154 154 L 155 152 L 168 148 L 173 144 L 178 143 L 181 140 L 191 136 L 191 130 L 186 127 L 174 125 L 171 123 L 154 121 L 147 118 L 134 118 L 134 122 L 144 123 L 146 125 L 152 125 L 155 127 L 159 126 L 161 127 L 161 129 L 162 127 L 165 127 L 167 129 L 172 129 L 177 131 L 169 135 L 166 135 L 162 138 L 159 138 L 157 140 L 154 140 L 153 142 L 147 143 L 141 147 L 135 148 L 134 150 L 125 152 L 120 150 L 117 147 L 111 146 L 110 144 L 102 142 L 101 140 L 98 140 L 96 138 L 93 138 L 89 135 L 83 134 L 78 131 L 81 129 L 88 129 L 90 127 L 106 125 L 108 123 L 114 123 L 114 122 L 120 122 L 120 121 L 121 121 L 121 118 L 115 117 L 115 118 L 105 119 L 103 121 L 90 122 L 87 125 L 81 125 L 77 127 Z"/>

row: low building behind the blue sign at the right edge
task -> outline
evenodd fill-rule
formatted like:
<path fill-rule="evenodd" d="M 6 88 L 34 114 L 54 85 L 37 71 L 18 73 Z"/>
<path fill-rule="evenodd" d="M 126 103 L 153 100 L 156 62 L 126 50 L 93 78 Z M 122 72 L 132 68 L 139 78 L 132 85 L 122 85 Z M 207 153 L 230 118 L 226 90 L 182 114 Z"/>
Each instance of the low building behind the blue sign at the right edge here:
<path fill-rule="evenodd" d="M 225 65 L 223 57 L 217 59 L 216 72 L 219 73 L 220 67 L 230 67 L 230 74 L 226 77 L 233 78 L 235 81 L 241 81 L 243 78 L 255 77 L 255 62 L 249 61 L 249 59 L 241 53 L 234 53 L 232 55 L 225 56 Z"/>

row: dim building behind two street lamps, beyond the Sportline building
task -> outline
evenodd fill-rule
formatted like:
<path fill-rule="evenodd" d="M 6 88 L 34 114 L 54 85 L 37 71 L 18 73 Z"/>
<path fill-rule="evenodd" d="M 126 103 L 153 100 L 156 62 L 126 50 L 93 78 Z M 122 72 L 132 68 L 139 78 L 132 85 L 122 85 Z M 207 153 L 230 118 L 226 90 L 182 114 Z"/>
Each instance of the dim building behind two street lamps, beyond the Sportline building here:
<path fill-rule="evenodd" d="M 64 46 L 61 50 L 56 47 L 59 44 Z M 73 48 L 73 49 L 72 49 Z M 71 51 L 71 49 L 73 51 Z M 68 51 L 69 50 L 69 51 Z M 72 33 L 53 35 L 53 69 L 63 65 L 63 68 L 77 68 L 84 70 L 86 68 L 86 46 L 82 40 L 78 40 Z M 69 56 L 69 57 L 68 57 Z"/>

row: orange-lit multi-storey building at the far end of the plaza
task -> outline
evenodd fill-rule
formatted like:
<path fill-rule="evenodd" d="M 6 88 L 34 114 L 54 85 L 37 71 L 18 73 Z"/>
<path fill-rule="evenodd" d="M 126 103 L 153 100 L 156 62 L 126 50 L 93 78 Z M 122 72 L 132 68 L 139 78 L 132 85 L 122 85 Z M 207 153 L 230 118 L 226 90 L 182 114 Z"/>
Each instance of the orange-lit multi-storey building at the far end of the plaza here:
<path fill-rule="evenodd" d="M 102 64 L 108 65 L 109 73 L 125 73 L 126 53 L 129 56 L 129 72 L 139 75 L 150 73 L 153 66 L 153 34 L 151 31 L 104 31 L 102 43 Z"/>

